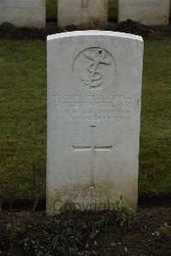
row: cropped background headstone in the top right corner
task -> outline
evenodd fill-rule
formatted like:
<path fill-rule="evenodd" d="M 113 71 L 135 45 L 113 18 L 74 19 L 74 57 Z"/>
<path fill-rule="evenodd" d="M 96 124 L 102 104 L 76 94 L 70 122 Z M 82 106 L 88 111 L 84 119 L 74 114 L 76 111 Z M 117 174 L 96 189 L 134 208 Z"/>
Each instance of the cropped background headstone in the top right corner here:
<path fill-rule="evenodd" d="M 119 21 L 144 25 L 167 25 L 170 0 L 119 0 Z"/>

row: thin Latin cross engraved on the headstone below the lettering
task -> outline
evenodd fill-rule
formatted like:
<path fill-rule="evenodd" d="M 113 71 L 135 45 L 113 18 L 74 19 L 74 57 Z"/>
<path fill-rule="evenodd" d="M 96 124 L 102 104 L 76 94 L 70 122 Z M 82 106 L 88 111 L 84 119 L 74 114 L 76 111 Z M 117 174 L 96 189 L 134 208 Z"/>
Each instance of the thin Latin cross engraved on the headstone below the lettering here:
<path fill-rule="evenodd" d="M 106 152 L 106 151 L 111 151 L 112 150 L 112 146 L 95 146 L 95 142 L 94 142 L 94 129 L 96 128 L 96 126 L 90 126 L 90 130 L 91 130 L 91 146 L 73 146 L 74 148 L 74 152 L 87 152 L 87 151 L 91 151 L 91 185 L 90 187 L 94 187 L 95 188 L 95 182 L 94 182 L 94 172 L 95 172 L 95 162 L 94 162 L 94 158 L 95 158 L 95 152 Z"/>

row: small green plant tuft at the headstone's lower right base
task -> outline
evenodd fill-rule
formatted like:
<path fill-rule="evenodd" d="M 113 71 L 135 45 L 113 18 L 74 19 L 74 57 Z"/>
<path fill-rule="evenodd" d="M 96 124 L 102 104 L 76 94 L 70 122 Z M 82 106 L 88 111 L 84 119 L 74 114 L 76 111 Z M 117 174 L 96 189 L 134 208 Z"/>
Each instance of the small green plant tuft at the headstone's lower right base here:
<path fill-rule="evenodd" d="M 121 228 L 129 227 L 137 222 L 137 212 L 133 208 L 124 205 L 122 199 L 116 202 L 115 217 Z"/>

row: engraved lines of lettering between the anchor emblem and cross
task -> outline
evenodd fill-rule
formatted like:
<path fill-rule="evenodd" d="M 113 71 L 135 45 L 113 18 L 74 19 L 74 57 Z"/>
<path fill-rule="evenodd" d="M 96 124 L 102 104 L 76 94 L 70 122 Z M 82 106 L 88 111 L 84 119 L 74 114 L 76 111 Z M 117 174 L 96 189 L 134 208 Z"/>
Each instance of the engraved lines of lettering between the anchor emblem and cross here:
<path fill-rule="evenodd" d="M 129 122 L 134 97 L 68 94 L 56 97 L 58 121 Z"/>

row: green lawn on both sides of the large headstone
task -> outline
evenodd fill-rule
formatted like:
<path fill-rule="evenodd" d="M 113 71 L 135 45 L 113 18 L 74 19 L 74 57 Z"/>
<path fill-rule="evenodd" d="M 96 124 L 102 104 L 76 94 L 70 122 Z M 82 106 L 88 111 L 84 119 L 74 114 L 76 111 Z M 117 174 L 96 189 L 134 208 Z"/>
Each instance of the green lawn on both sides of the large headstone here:
<path fill-rule="evenodd" d="M 171 193 L 171 40 L 144 45 L 139 196 Z M 0 40 L 0 196 L 45 197 L 46 57 L 43 41 Z"/>

